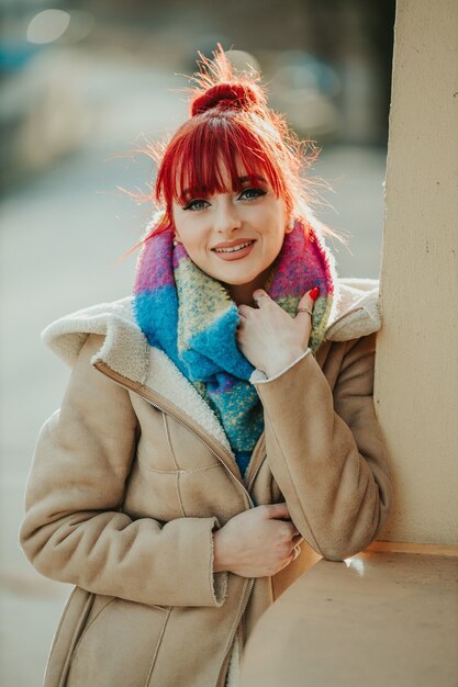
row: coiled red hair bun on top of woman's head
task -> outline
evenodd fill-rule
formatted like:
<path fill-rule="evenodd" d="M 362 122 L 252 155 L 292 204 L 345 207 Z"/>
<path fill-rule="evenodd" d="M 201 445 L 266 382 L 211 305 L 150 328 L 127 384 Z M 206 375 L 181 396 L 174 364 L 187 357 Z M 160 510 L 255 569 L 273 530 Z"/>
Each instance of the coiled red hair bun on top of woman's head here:
<path fill-rule="evenodd" d="M 191 116 L 213 108 L 220 110 L 250 110 L 264 102 L 261 92 L 245 83 L 216 83 L 191 102 Z"/>

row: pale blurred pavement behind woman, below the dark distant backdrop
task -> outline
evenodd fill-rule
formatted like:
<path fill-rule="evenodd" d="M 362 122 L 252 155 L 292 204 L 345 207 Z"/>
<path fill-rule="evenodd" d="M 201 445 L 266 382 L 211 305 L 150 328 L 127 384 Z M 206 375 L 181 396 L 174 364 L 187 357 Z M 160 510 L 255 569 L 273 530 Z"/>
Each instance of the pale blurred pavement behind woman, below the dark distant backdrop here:
<path fill-rule="evenodd" d="M 172 122 L 171 102 L 167 94 L 156 108 L 156 129 Z M 137 206 L 116 187 L 143 185 L 153 165 L 146 158 L 135 162 L 116 157 L 129 147 L 132 127 L 139 131 L 144 124 L 135 121 L 129 132 L 116 128 L 116 121 L 124 122 L 127 114 L 120 105 L 107 136 L 92 138 L 78 153 L 16 185 L 0 205 L 2 687 L 42 684 L 69 593 L 67 585 L 38 575 L 18 544 L 34 442 L 44 419 L 58 407 L 68 379 L 65 365 L 41 344 L 40 333 L 60 315 L 131 291 L 135 257 L 118 262 L 142 234 L 149 209 Z M 323 206 L 321 218 L 351 233 L 353 255 L 334 244 L 342 275 L 378 277 L 384 166 L 386 150 L 345 146 L 329 146 L 316 166 L 316 173 L 334 188 L 334 193 L 323 194 L 335 211 Z"/>

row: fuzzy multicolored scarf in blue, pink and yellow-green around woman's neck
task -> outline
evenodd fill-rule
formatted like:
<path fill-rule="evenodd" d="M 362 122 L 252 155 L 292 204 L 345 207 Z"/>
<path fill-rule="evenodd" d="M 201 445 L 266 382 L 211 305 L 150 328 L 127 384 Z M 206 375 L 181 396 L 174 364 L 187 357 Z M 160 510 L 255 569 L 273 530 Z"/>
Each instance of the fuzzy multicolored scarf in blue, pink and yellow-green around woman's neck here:
<path fill-rule="evenodd" d="M 295 222 L 266 291 L 294 316 L 303 294 L 319 286 L 309 346 L 320 347 L 333 302 L 333 264 L 314 229 Z M 239 315 L 227 290 L 174 247 L 167 229 L 147 239 L 138 258 L 134 314 L 150 346 L 160 348 L 217 415 L 236 461 L 245 472 L 264 429 L 259 396 L 249 376 L 254 367 L 236 342 Z"/>

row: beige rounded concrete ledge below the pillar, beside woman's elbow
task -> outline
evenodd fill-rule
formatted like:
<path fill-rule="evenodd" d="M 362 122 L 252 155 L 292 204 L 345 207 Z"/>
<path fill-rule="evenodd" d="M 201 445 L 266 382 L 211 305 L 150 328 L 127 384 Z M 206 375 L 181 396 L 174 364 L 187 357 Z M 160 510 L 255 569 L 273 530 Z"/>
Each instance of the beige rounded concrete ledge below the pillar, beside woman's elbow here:
<path fill-rule="evenodd" d="M 320 561 L 262 616 L 242 687 L 456 687 L 458 560 Z"/>

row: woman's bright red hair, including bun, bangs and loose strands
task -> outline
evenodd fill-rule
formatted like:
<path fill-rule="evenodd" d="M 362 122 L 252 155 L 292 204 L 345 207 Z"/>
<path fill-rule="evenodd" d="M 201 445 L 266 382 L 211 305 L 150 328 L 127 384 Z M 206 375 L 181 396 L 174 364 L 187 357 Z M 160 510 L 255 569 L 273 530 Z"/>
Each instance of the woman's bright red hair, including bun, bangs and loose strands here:
<path fill-rule="evenodd" d="M 242 188 L 241 176 L 254 185 L 265 179 L 283 199 L 289 217 L 305 218 L 309 187 L 300 172 L 314 161 L 316 150 L 305 156 L 304 144 L 284 117 L 267 106 L 257 72 L 235 74 L 221 46 L 213 60 L 200 57 L 190 119 L 167 145 L 148 150 L 158 164 L 154 195 L 163 214 L 144 240 L 172 226 L 172 203 L 189 200 L 187 191 L 235 192 Z"/>

